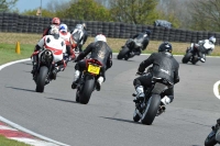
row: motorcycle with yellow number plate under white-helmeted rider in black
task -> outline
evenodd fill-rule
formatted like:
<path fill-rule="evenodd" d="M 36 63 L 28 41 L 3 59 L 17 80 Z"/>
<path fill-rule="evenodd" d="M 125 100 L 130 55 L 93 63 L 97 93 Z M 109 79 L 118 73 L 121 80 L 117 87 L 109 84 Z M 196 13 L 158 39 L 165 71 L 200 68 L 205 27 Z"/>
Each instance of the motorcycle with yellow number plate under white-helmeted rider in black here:
<path fill-rule="evenodd" d="M 87 104 L 92 91 L 96 89 L 102 64 L 97 59 L 86 58 L 86 69 L 82 71 L 77 83 L 76 101 Z"/>

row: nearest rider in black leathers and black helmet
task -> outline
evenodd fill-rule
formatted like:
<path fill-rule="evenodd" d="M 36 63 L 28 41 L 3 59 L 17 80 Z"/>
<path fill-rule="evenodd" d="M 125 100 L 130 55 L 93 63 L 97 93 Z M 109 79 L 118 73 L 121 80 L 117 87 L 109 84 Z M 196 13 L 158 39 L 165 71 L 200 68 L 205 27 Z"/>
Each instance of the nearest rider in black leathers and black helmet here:
<path fill-rule="evenodd" d="M 150 88 L 152 86 L 152 77 L 166 78 L 173 85 L 179 82 L 179 64 L 173 57 L 172 50 L 172 44 L 168 42 L 163 42 L 158 46 L 158 53 L 153 53 L 147 59 L 140 64 L 136 72 L 138 75 L 143 75 L 145 68 L 147 68 L 150 65 L 153 66 L 151 67 L 150 72 L 133 80 L 133 86 L 136 91 L 136 98 L 134 99 L 134 102 L 138 102 L 145 97 L 144 88 Z M 162 97 L 164 98 L 162 99 L 161 108 L 173 102 L 174 86 L 166 89 Z"/>

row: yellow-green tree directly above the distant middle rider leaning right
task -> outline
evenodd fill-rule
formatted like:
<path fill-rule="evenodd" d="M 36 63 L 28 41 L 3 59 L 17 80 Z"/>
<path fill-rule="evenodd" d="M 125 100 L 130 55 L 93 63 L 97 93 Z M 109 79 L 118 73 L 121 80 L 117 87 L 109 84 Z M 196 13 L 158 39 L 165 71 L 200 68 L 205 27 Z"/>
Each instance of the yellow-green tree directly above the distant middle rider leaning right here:
<path fill-rule="evenodd" d="M 158 18 L 156 12 L 157 0 L 112 0 L 110 4 L 114 21 L 153 24 Z"/>

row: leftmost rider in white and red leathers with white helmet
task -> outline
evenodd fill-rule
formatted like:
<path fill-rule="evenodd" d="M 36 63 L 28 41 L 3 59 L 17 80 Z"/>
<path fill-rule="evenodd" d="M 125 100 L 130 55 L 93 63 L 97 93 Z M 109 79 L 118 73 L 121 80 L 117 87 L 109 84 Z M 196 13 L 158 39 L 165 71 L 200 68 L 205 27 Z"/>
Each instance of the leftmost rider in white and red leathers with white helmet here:
<path fill-rule="evenodd" d="M 35 45 L 34 53 L 32 54 L 32 64 L 33 64 L 33 70 L 31 71 L 33 74 L 33 77 L 35 77 L 36 69 L 38 66 L 38 53 L 44 47 L 54 49 L 54 46 L 56 45 L 56 48 L 62 49 L 63 53 L 66 52 L 66 44 L 63 38 L 59 37 L 59 31 L 56 26 L 52 26 L 50 35 L 45 35 L 43 38 L 38 41 L 38 43 Z M 56 54 L 54 54 L 56 56 Z M 59 56 L 57 56 L 59 57 Z M 61 70 L 64 70 L 66 67 L 66 64 L 63 59 L 58 60 L 56 64 L 56 67 L 53 70 L 53 77 L 56 79 L 56 74 Z"/>

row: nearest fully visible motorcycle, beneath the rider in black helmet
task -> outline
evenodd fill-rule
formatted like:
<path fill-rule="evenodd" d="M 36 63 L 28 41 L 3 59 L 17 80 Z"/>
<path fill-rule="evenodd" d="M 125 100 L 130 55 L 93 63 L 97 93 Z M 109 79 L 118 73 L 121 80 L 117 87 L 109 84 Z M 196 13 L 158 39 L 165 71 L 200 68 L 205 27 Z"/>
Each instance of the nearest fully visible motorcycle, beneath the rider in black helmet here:
<path fill-rule="evenodd" d="M 144 76 L 144 74 L 142 75 Z M 166 79 L 153 77 L 152 87 L 144 88 L 145 97 L 143 100 L 135 100 L 135 110 L 133 113 L 133 121 L 139 122 L 141 120 L 142 124 L 151 125 L 155 116 L 161 115 L 165 112 L 165 106 L 162 103 L 163 92 L 173 86 Z M 136 97 L 133 93 L 133 97 Z"/>

